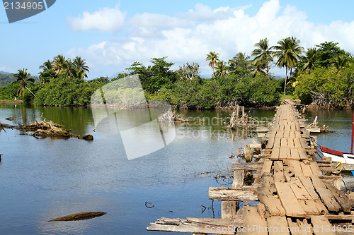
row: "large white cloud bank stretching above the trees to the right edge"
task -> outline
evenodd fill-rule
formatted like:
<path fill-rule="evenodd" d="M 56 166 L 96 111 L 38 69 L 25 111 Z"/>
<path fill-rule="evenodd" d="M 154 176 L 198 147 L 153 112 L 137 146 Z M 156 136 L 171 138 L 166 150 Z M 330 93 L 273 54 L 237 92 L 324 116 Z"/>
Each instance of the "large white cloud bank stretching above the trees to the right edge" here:
<path fill-rule="evenodd" d="M 251 54 L 253 45 L 268 37 L 270 45 L 285 37 L 295 36 L 302 46 L 314 47 L 325 41 L 339 42 L 348 52 L 354 52 L 354 21 L 335 21 L 321 25 L 307 21 L 304 11 L 295 6 L 280 6 L 279 0 L 266 1 L 255 16 L 246 11 L 250 6 L 212 9 L 202 4 L 175 16 L 142 13 L 128 20 L 130 35 L 117 40 L 93 44 L 86 49 L 72 49 L 86 61 L 112 74 L 127 68 L 134 61 L 147 64 L 152 57 L 169 56 L 176 68 L 186 62 L 200 63 L 202 73 L 209 73 L 205 62 L 210 51 L 227 61 L 238 52 Z"/>

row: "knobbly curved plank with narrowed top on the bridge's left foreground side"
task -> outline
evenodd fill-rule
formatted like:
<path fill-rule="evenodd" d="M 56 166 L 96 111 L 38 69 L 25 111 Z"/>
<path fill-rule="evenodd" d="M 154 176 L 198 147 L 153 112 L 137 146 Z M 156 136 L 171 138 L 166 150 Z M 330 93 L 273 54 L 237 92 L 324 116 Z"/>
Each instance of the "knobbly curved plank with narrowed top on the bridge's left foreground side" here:
<path fill-rule="evenodd" d="M 258 198 L 265 205 L 270 215 L 285 216 L 285 210 L 282 207 L 279 198 L 275 198 L 276 188 L 271 174 L 264 174 L 261 187 L 257 188 Z"/>

